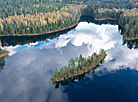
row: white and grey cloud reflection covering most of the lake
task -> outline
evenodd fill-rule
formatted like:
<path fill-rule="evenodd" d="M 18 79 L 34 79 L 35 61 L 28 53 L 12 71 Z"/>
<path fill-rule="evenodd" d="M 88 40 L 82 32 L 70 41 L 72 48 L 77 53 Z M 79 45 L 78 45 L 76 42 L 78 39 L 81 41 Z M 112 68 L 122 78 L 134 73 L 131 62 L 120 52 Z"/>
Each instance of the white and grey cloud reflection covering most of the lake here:
<path fill-rule="evenodd" d="M 117 25 L 80 22 L 75 31 L 46 42 L 4 47 L 10 54 L 0 73 L 0 102 L 67 102 L 69 97 L 63 93 L 63 87 L 55 90 L 50 75 L 55 67 L 59 70 L 67 65 L 70 58 L 80 54 L 87 57 L 100 48 L 108 56 L 94 75 L 128 67 L 138 70 L 137 49 L 128 49 L 122 45 L 122 39 Z M 86 77 L 93 80 L 94 76 Z"/>

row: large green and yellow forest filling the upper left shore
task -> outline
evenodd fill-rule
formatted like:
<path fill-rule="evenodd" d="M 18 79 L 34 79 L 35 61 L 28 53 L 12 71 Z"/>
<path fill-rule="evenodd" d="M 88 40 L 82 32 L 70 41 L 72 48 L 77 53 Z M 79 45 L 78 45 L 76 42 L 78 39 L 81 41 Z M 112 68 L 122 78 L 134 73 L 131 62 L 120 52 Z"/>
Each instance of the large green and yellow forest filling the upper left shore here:
<path fill-rule="evenodd" d="M 46 33 L 76 24 L 86 5 L 50 0 L 0 1 L 0 34 Z"/>

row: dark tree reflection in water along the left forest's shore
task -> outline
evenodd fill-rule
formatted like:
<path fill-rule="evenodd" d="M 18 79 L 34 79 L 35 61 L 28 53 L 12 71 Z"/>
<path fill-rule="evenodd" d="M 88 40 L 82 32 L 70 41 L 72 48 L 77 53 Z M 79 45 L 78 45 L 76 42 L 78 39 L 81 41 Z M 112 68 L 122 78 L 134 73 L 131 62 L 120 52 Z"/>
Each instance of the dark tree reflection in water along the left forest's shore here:
<path fill-rule="evenodd" d="M 75 26 L 76 27 L 76 26 Z M 23 45 L 28 43 L 35 43 L 39 41 L 46 41 L 47 39 L 54 39 L 59 37 L 59 35 L 65 34 L 68 31 L 74 29 L 75 27 L 59 31 L 51 34 L 37 35 L 37 36 L 9 36 L 9 37 L 0 37 L 3 46 L 15 46 L 17 44 Z"/>

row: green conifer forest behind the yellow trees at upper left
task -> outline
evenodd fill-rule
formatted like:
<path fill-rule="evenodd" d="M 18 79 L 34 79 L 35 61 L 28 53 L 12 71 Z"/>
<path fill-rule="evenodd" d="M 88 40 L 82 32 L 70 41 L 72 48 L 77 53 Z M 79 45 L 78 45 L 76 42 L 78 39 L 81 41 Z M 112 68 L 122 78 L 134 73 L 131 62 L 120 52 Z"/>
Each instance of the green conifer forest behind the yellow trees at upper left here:
<path fill-rule="evenodd" d="M 0 18 L 6 18 L 21 14 L 36 14 L 42 12 L 52 12 L 59 10 L 65 3 L 55 3 L 52 0 L 0 0 Z"/>

